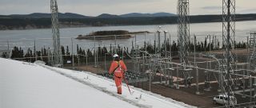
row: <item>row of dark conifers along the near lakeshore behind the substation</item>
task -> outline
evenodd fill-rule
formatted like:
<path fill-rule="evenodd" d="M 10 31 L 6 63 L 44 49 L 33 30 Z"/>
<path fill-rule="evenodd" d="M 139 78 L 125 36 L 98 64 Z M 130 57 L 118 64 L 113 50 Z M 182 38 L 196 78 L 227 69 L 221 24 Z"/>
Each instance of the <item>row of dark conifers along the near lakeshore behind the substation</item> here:
<path fill-rule="evenodd" d="M 194 44 L 189 43 L 188 46 L 190 48 L 190 51 L 194 52 Z M 135 47 L 136 46 L 132 45 L 132 48 L 135 48 Z M 142 45 L 142 47 L 140 47 L 139 49 L 142 51 L 147 51 L 149 54 L 154 54 L 156 48 L 157 48 L 157 44 L 156 44 L 156 41 L 154 41 L 153 43 L 144 42 L 144 45 Z M 207 51 L 210 51 L 210 49 L 214 51 L 222 48 L 223 46 L 221 47 L 219 42 L 216 44 L 213 44 L 213 43 L 208 43 L 206 40 L 200 41 L 197 44 L 195 44 L 196 52 L 207 52 Z M 246 43 L 235 42 L 235 48 L 246 48 Z M 172 56 L 178 56 L 178 43 L 176 43 L 175 41 L 170 43 L 170 40 L 167 39 L 166 50 L 167 52 L 172 52 L 171 53 Z M 164 52 L 164 51 L 165 51 L 165 44 L 162 43 L 160 52 Z M 77 44 L 76 52 L 77 52 L 76 54 L 72 55 L 72 52 L 70 52 L 70 48 L 68 46 L 66 47 L 61 46 L 63 64 L 68 64 L 68 61 L 72 61 L 72 56 L 74 56 L 74 63 L 78 63 L 78 60 L 79 60 L 81 64 L 85 64 L 86 60 L 87 62 L 94 62 L 94 56 L 97 56 L 98 61 L 104 61 L 105 56 L 106 56 L 106 60 L 112 60 L 111 56 L 114 53 L 117 53 L 120 56 L 124 56 L 124 59 L 130 59 L 128 55 L 132 56 L 134 51 L 129 50 L 129 48 L 126 48 L 126 47 L 121 47 L 119 45 L 116 48 L 114 48 L 114 46 L 110 44 L 109 48 L 106 48 L 105 46 L 96 48 L 95 49 L 96 53 L 94 53 L 94 49 L 90 49 L 90 48 L 85 49 L 85 48 L 79 47 L 79 45 Z M 50 51 L 50 48 L 43 47 L 41 48 L 41 50 L 34 50 L 31 48 L 28 48 L 26 53 L 24 53 L 22 48 L 18 48 L 17 46 L 14 46 L 14 48 L 11 51 L 10 58 L 16 59 L 16 60 L 24 60 L 28 62 L 34 62 L 35 60 L 42 60 L 46 62 L 46 64 L 50 64 L 48 63 L 50 59 L 49 55 L 51 56 L 52 54 L 53 52 Z M 2 52 L 1 56 L 3 58 L 7 58 L 8 52 Z M 37 59 L 35 59 L 35 57 Z"/>

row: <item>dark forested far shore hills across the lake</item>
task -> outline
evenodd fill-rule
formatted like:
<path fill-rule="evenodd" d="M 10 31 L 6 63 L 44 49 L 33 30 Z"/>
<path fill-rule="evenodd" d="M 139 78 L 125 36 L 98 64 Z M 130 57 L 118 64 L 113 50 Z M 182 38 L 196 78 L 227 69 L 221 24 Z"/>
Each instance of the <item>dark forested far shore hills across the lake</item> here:
<path fill-rule="evenodd" d="M 36 13 L 34 13 L 36 14 Z M 41 13 L 39 13 L 40 15 Z M 66 13 L 68 14 L 68 13 Z M 31 15 L 31 14 L 30 14 Z M 34 17 L 50 17 L 39 16 Z M 162 15 L 162 14 L 160 14 Z M 19 15 L 14 15 L 19 16 Z M 31 16 L 27 15 L 28 17 Z M 159 16 L 157 14 L 156 16 Z M 21 16 L 19 16 L 21 17 Z M 114 18 L 106 18 L 114 17 Z M 111 14 L 102 14 L 98 17 L 59 19 L 61 27 L 107 26 L 107 25 L 166 25 L 177 24 L 178 17 L 119 17 Z M 236 14 L 236 21 L 256 21 L 256 13 Z M 222 22 L 222 14 L 190 16 L 190 23 Z M 51 27 L 50 18 L 14 18 L 0 15 L 0 30 L 6 29 L 45 29 Z"/>

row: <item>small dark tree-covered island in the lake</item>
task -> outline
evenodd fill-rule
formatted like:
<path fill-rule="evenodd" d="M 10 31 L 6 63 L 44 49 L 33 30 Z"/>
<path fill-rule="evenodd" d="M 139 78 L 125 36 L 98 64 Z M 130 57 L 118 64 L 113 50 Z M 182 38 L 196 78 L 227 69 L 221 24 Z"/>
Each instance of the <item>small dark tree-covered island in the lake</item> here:
<path fill-rule="evenodd" d="M 134 37 L 134 34 L 150 33 L 148 31 L 129 32 L 126 30 L 112 30 L 112 31 L 97 31 L 88 35 L 78 35 L 78 40 L 114 40 L 114 39 L 129 39 Z"/>

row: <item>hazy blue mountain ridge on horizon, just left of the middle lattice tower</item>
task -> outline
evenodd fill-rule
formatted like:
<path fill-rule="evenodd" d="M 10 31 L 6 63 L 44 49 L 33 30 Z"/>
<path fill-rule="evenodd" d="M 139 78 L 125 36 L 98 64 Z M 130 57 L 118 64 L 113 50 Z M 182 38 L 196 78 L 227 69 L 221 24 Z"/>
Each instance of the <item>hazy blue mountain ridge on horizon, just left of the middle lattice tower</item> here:
<path fill-rule="evenodd" d="M 126 13 L 119 15 L 120 17 L 170 17 L 176 16 L 174 13 Z"/>

